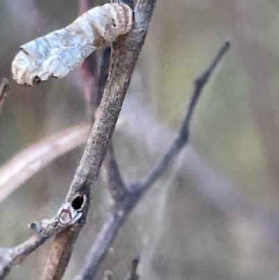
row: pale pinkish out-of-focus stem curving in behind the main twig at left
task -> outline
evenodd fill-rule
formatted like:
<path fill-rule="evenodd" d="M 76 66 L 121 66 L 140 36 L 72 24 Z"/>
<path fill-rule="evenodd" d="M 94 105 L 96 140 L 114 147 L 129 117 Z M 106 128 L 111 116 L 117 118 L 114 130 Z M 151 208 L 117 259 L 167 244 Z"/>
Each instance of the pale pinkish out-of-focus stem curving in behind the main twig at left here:
<path fill-rule="evenodd" d="M 37 142 L 0 168 L 0 202 L 47 164 L 81 145 L 89 135 L 90 124 L 67 128 Z"/>

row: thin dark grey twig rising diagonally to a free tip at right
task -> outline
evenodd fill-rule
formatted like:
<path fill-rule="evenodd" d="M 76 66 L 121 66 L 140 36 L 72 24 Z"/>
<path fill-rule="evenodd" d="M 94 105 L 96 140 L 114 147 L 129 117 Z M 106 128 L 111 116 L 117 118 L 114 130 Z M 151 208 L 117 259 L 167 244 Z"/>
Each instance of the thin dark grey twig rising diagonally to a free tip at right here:
<path fill-rule="evenodd" d="M 153 182 L 158 179 L 159 175 L 162 174 L 162 172 L 167 168 L 169 162 L 188 142 L 188 126 L 193 115 L 195 105 L 197 104 L 198 97 L 204 85 L 209 80 L 213 69 L 218 64 L 218 61 L 220 61 L 220 58 L 223 57 L 228 49 L 229 43 L 226 42 L 218 52 L 216 59 L 213 59 L 213 62 L 209 68 L 207 68 L 204 74 L 196 80 L 195 89 L 190 100 L 190 105 L 188 106 L 188 110 L 186 112 L 186 117 L 183 120 L 179 135 L 176 140 L 174 140 L 172 147 L 165 154 L 165 156 L 163 156 L 163 159 L 159 161 L 155 168 L 153 168 L 150 174 L 142 180 L 142 182 L 130 184 L 130 186 L 128 186 L 128 192 L 126 193 L 126 196 L 123 196 L 121 200 L 115 202 L 110 215 L 107 217 L 107 220 L 103 224 L 96 241 L 93 243 L 93 246 L 91 246 L 91 249 L 86 256 L 84 267 L 82 267 L 80 273 L 77 274 L 75 280 L 89 280 L 94 277 L 98 270 L 98 265 L 105 257 L 107 249 L 109 249 L 110 245 L 114 241 L 116 233 L 126 221 L 126 217 L 130 211 L 135 207 L 135 205 L 137 205 L 137 202 L 140 200 L 146 189 L 148 189 L 149 186 L 151 186 L 151 184 L 153 184 Z"/>

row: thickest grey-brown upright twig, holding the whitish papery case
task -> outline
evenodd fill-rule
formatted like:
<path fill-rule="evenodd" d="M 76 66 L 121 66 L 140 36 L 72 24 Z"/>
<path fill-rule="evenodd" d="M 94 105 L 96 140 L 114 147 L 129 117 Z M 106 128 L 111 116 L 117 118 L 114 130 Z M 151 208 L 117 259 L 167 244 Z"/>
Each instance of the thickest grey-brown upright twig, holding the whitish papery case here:
<path fill-rule="evenodd" d="M 110 145 L 112 133 L 121 110 L 123 100 L 130 84 L 130 79 L 135 68 L 137 58 L 142 50 L 142 45 L 146 37 L 153 8 L 156 1 L 140 0 L 137 3 L 135 12 L 135 25 L 127 36 L 119 38 L 112 43 L 112 64 L 110 75 L 100 103 L 98 117 L 93 124 L 91 135 L 86 145 L 84 155 L 77 168 L 77 172 L 70 186 L 66 201 L 72 203 L 75 196 L 82 196 L 85 199 L 82 211 L 82 219 L 78 225 L 73 226 L 63 243 L 61 251 L 67 251 L 67 247 L 72 247 L 75 238 L 80 232 L 86 220 L 86 214 L 92 196 L 93 184 L 96 182 L 100 165 Z M 70 255 L 65 256 L 65 260 L 60 259 L 60 263 L 66 266 Z M 61 279 L 63 274 L 54 273 L 52 279 Z"/>

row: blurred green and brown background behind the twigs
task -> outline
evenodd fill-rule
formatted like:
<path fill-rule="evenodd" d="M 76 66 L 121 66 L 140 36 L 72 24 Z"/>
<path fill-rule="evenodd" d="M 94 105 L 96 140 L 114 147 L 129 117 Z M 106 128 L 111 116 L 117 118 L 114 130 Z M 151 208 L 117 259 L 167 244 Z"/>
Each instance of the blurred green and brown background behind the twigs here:
<path fill-rule="evenodd" d="M 0 164 L 31 143 L 86 121 L 77 70 L 36 87 L 17 85 L 10 75 L 18 47 L 75 20 L 77 6 L 73 0 L 0 1 L 0 78 L 10 79 L 0 117 Z M 150 124 L 175 133 L 193 81 L 227 39 L 232 49 L 195 110 L 192 156 L 186 151 L 147 193 L 96 279 L 106 269 L 123 279 L 136 253 L 142 257 L 142 279 L 279 279 L 279 2 L 158 1 L 127 104 L 140 104 L 139 123 L 152 116 L 157 122 Z M 142 134 L 120 127 L 114 135 L 129 182 L 146 174 L 165 150 L 167 134 L 150 124 Z M 154 131 L 156 138 L 148 142 L 146 135 Z M 57 159 L 1 203 L 1 247 L 29 237 L 27 223 L 55 214 L 81 154 L 77 147 Z M 64 279 L 79 270 L 110 209 L 101 182 L 93 202 Z M 39 279 L 50 243 L 7 279 Z"/>

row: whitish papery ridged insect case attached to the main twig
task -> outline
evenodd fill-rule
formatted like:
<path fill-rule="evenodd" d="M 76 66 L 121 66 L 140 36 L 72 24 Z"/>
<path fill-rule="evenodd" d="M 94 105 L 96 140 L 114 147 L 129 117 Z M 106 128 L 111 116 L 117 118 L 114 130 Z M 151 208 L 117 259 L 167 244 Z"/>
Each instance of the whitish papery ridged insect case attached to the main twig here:
<path fill-rule="evenodd" d="M 98 47 L 127 34 L 133 26 L 133 10 L 107 3 L 88 10 L 63 29 L 20 46 L 12 63 L 13 78 L 32 85 L 54 76 L 65 77 Z"/>

